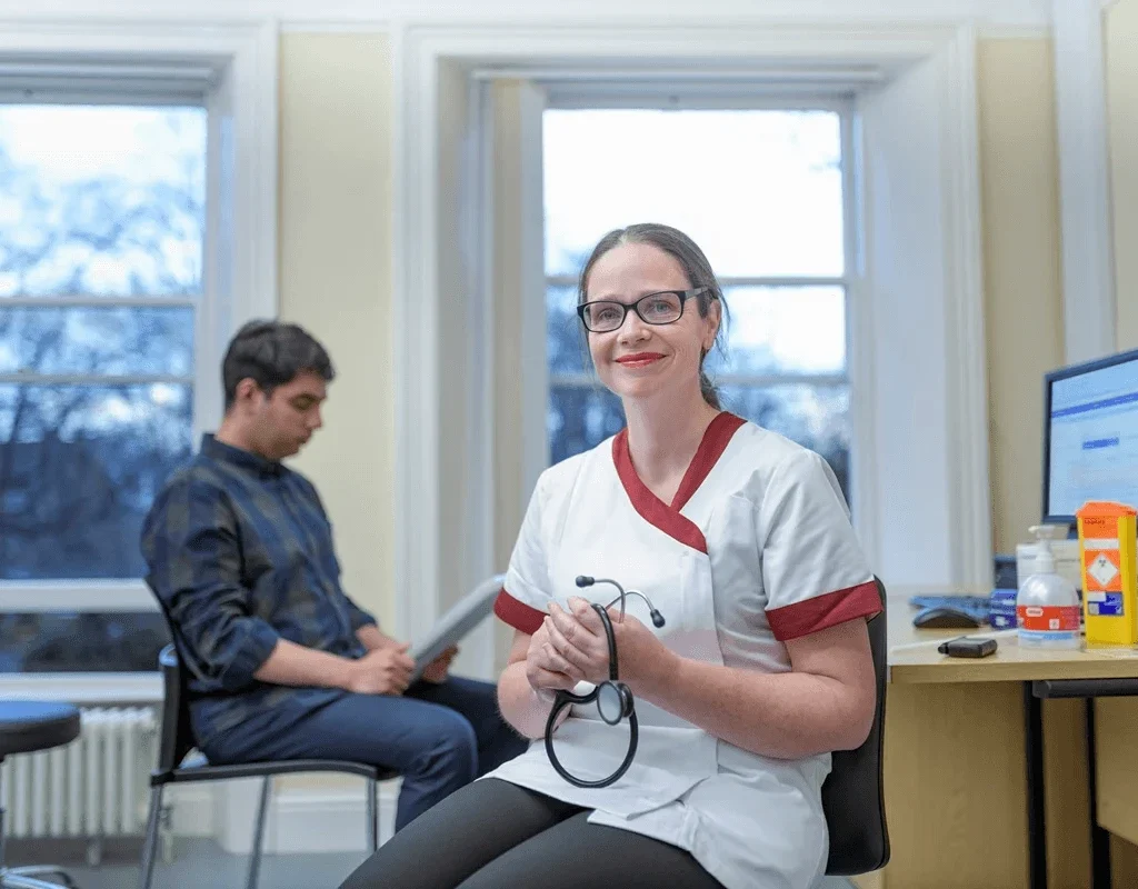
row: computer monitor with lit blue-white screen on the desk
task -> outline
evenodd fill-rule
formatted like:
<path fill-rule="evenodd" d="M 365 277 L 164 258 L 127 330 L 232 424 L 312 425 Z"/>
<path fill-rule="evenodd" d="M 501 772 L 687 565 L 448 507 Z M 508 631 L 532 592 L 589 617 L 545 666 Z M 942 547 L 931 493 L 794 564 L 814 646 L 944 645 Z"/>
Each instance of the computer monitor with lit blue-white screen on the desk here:
<path fill-rule="evenodd" d="M 1138 508 L 1138 349 L 1045 377 L 1044 521 L 1088 500 Z"/>

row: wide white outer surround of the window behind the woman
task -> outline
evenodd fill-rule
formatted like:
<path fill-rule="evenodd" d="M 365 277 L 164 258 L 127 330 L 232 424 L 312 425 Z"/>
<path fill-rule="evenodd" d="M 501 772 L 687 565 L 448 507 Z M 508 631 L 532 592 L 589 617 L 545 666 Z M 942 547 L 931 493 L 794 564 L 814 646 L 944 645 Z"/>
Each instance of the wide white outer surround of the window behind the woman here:
<path fill-rule="evenodd" d="M 767 82 L 793 79 L 853 93 L 858 165 L 866 171 L 856 200 L 867 239 L 857 258 L 867 282 L 864 293 L 851 294 L 851 305 L 866 311 L 855 313 L 849 331 L 849 367 L 855 385 L 866 381 L 860 392 L 851 390 L 851 400 L 871 400 L 875 414 L 864 429 L 867 412 L 857 414 L 856 447 L 866 448 L 861 462 L 871 487 L 855 486 L 856 525 L 871 562 L 894 590 L 990 583 L 976 19 L 976 10 L 968 9 L 935 23 L 907 13 L 873 27 L 850 27 L 848 18 L 835 27 L 803 14 L 778 23 L 636 20 L 615 28 L 570 17 L 463 28 L 412 22 L 397 30 L 393 364 L 399 632 L 427 632 L 448 591 L 500 569 L 485 528 L 497 515 L 517 512 L 512 501 L 494 502 L 496 468 L 486 446 L 493 438 L 486 418 L 494 410 L 486 384 L 495 348 L 486 321 L 488 270 L 495 267 L 486 234 L 494 147 L 477 88 L 496 79 L 528 88 L 572 67 L 599 79 L 659 81 L 661 72 L 671 72 L 703 83 L 720 72 L 756 81 L 768 75 Z M 869 24 L 865 16 L 858 20 Z M 536 98 L 523 102 L 537 104 Z M 531 131 L 533 124 L 522 120 L 520 129 Z M 522 190 L 539 195 L 525 151 L 519 172 Z M 520 211 L 522 242 L 533 239 L 531 203 L 523 200 Z M 455 255 L 451 245 L 465 238 L 472 249 Z M 529 293 L 544 277 L 535 275 L 525 257 L 509 273 L 523 279 Z M 924 298 L 906 301 L 913 293 Z M 459 314 L 469 320 L 465 332 L 478 331 L 473 338 L 459 340 L 439 323 L 454 314 L 456 294 L 465 297 Z M 920 326 L 920 348 L 906 338 L 905 323 Z M 544 330 L 523 320 L 521 341 L 536 337 L 544 339 Z M 889 345 L 874 348 L 875 343 Z M 522 406 L 529 409 L 529 389 L 542 373 L 534 367 L 525 374 Z M 454 412 L 460 389 L 472 390 L 465 396 L 471 406 Z M 915 428 L 900 418 L 912 408 L 921 414 Z M 533 481 L 529 463 L 530 454 L 522 453 L 518 475 L 525 475 L 526 492 Z M 453 499 L 456 491 L 469 493 L 444 508 L 444 496 Z M 455 541 L 463 544 L 457 558 Z"/>

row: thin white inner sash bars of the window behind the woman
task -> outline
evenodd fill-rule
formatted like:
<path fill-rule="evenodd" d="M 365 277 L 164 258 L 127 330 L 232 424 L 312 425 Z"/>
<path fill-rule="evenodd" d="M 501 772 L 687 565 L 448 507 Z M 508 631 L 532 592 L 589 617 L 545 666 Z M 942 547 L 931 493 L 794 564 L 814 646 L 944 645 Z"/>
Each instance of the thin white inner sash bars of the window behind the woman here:
<path fill-rule="evenodd" d="M 739 89 L 743 85 L 744 89 Z M 707 88 L 698 81 L 690 82 L 651 82 L 640 84 L 609 84 L 589 80 L 582 81 L 556 81 L 546 89 L 546 101 L 544 110 L 591 110 L 596 108 L 627 108 L 648 110 L 822 110 L 832 112 L 839 118 L 839 138 L 841 140 L 841 182 L 842 182 L 842 265 L 841 275 L 719 275 L 719 285 L 724 290 L 732 287 L 770 287 L 786 288 L 795 287 L 838 287 L 842 290 L 844 307 L 846 329 L 846 369 L 841 373 L 736 373 L 717 374 L 716 384 L 719 386 L 742 386 L 758 388 L 762 386 L 776 385 L 814 385 L 814 386 L 844 386 L 850 393 L 850 501 L 857 499 L 856 489 L 865 489 L 865 481 L 859 481 L 864 468 L 857 455 L 857 425 L 859 411 L 869 410 L 868 404 L 855 404 L 852 400 L 853 381 L 851 369 L 851 328 L 853 327 L 851 298 L 855 294 L 864 291 L 864 275 L 858 264 L 858 255 L 861 249 L 863 233 L 857 222 L 857 194 L 858 194 L 858 170 L 857 148 L 855 142 L 855 115 L 856 108 L 852 97 L 848 90 L 830 90 L 819 92 L 814 89 L 801 89 L 792 82 L 782 84 L 735 84 L 736 89 L 721 89 L 717 87 L 715 92 L 707 91 Z M 544 269 L 544 256 L 543 256 Z M 549 306 L 549 288 L 551 287 L 577 287 L 577 275 L 572 274 L 545 274 L 545 302 Z M 549 415 L 549 397 L 554 386 L 575 386 L 582 388 L 593 388 L 600 386 L 595 374 L 588 369 L 582 373 L 554 373 L 546 367 L 546 402 L 545 414 L 542 417 L 542 428 L 544 429 L 545 418 Z M 529 418 L 527 418 L 528 420 Z M 864 423 L 872 422 L 872 418 L 864 418 Z M 537 435 L 536 423 L 528 430 L 529 436 Z M 545 461 L 549 466 L 550 436 L 545 433 Z"/>

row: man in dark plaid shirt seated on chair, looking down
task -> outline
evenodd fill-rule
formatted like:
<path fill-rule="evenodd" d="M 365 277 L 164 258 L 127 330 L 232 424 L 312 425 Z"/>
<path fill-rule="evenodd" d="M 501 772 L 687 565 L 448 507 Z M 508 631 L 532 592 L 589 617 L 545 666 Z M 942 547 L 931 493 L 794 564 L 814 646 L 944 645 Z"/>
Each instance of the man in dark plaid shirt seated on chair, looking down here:
<path fill-rule="evenodd" d="M 222 365 L 221 428 L 155 499 L 142 552 L 209 760 L 397 769 L 398 830 L 526 741 L 498 716 L 493 684 L 447 677 L 453 650 L 409 685 L 406 643 L 340 588 L 320 497 L 280 462 L 320 428 L 333 376 L 299 327 L 246 324 Z"/>

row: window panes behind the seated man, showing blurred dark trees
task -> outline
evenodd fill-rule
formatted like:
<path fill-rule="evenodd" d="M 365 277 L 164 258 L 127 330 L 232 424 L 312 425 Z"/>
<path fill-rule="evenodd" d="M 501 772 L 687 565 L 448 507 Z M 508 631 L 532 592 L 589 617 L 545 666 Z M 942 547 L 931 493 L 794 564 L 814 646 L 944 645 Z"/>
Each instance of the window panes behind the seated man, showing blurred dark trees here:
<path fill-rule="evenodd" d="M 191 451 L 206 124 L 0 105 L 0 584 L 143 575 L 142 518 Z M 152 669 L 163 636 L 157 614 L 7 614 L 0 669 Z"/>

